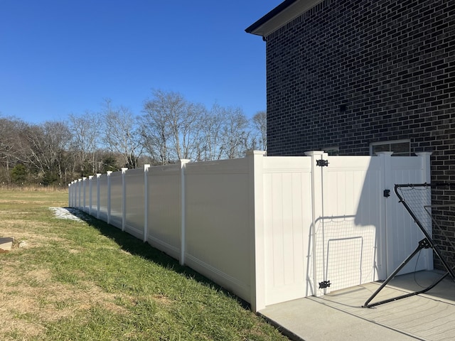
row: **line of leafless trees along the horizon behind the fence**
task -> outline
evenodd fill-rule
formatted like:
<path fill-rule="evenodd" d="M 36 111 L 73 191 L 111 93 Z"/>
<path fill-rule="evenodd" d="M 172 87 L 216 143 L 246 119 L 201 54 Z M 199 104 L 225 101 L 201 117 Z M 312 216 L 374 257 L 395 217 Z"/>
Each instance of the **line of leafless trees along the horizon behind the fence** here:
<path fill-rule="evenodd" d="M 265 112 L 248 119 L 238 107 L 207 109 L 178 92 L 154 90 L 139 116 L 106 99 L 99 112 L 65 121 L 0 117 L 0 183 L 65 186 L 122 167 L 240 158 L 266 148 Z"/>

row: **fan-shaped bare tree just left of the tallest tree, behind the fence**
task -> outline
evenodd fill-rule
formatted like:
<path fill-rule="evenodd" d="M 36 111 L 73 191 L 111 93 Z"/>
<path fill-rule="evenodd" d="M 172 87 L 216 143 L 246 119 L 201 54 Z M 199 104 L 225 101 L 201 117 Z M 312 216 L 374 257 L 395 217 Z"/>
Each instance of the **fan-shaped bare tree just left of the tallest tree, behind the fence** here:
<path fill-rule="evenodd" d="M 111 101 L 107 99 L 103 119 L 105 126 L 103 141 L 107 148 L 120 153 L 126 167 L 137 168 L 138 158 L 144 148 L 137 117 L 126 107 L 112 107 Z"/>

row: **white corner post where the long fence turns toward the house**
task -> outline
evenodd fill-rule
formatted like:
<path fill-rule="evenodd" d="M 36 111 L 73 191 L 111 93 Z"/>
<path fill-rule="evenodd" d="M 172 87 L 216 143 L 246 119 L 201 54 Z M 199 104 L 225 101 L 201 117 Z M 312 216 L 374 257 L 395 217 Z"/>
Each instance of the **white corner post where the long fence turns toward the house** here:
<path fill-rule="evenodd" d="M 264 154 L 247 152 L 250 226 L 250 303 L 253 311 L 265 308 L 265 248 L 264 248 Z"/>

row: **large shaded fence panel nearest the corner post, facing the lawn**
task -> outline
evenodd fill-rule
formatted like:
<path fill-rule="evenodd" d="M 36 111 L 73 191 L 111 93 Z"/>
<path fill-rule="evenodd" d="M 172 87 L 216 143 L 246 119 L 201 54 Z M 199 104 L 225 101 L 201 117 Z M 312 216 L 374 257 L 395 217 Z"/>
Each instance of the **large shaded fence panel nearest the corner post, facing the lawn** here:
<path fill-rule="evenodd" d="M 250 299 L 249 168 L 246 158 L 185 168 L 185 262 Z"/>

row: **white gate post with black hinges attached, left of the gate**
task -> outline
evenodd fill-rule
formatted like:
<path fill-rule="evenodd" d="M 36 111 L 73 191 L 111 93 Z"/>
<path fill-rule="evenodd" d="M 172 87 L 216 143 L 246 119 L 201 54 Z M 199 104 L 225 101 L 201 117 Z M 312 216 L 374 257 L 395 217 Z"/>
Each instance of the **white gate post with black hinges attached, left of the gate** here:
<path fill-rule="evenodd" d="M 323 295 L 326 292 L 324 289 L 323 293 L 319 291 L 317 286 L 318 281 L 323 280 L 323 266 L 319 269 L 319 262 L 317 258 L 319 256 L 318 249 L 316 248 L 317 238 L 316 235 L 316 223 L 321 224 L 321 231 L 323 231 L 323 178 L 322 172 L 324 167 L 317 168 L 316 161 L 327 159 L 328 154 L 323 151 L 307 151 L 306 156 L 311 157 L 311 247 L 312 247 L 312 266 L 313 266 L 313 295 Z M 321 218 L 321 222 L 317 222 L 318 218 Z M 322 244 L 323 247 L 323 244 Z M 323 254 L 323 250 L 322 250 Z"/>

